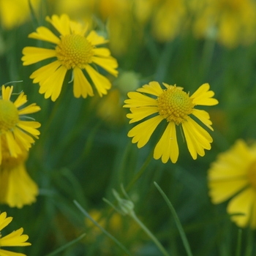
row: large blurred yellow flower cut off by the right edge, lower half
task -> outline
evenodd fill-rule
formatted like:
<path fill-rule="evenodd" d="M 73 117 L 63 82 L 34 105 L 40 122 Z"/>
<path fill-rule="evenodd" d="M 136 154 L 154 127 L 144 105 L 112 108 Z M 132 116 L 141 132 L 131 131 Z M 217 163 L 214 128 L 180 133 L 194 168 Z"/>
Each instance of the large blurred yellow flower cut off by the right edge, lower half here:
<path fill-rule="evenodd" d="M 208 170 L 211 201 L 222 203 L 233 197 L 227 205 L 231 220 L 239 227 L 256 228 L 256 143 L 247 146 L 244 140 L 224 153 Z"/>

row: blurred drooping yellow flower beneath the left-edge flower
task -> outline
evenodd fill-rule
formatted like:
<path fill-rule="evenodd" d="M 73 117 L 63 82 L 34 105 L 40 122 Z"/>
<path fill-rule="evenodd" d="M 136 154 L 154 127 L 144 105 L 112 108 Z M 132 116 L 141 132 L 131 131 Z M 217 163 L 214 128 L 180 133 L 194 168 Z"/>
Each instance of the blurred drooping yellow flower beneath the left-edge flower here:
<path fill-rule="evenodd" d="M 0 165 L 0 203 L 22 208 L 36 201 L 37 184 L 26 172 L 28 152 L 23 149 L 18 157 L 11 157 L 6 141 L 1 140 L 2 162 Z"/>

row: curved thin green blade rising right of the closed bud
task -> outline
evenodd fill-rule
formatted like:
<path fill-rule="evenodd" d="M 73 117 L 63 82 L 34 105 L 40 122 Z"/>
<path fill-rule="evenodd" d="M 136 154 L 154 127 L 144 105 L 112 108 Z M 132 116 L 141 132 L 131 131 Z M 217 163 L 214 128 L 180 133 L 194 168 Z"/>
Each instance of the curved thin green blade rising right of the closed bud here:
<path fill-rule="evenodd" d="M 192 256 L 192 252 L 189 246 L 189 242 L 187 241 L 187 236 L 184 232 L 184 229 L 181 225 L 181 222 L 178 219 L 178 215 L 176 214 L 176 211 L 172 205 L 172 203 L 170 203 L 170 200 L 168 199 L 168 197 L 165 195 L 165 192 L 162 191 L 162 189 L 159 187 L 159 185 L 157 184 L 157 182 L 154 182 L 154 185 L 157 187 L 157 189 L 159 190 L 160 194 L 162 195 L 162 197 L 164 197 L 165 202 L 167 203 L 167 206 L 170 208 L 171 213 L 173 214 L 173 218 L 176 222 L 176 225 L 178 227 L 178 232 L 180 233 L 181 236 L 181 240 L 183 241 L 184 247 L 186 249 L 187 255 L 188 256 Z"/>

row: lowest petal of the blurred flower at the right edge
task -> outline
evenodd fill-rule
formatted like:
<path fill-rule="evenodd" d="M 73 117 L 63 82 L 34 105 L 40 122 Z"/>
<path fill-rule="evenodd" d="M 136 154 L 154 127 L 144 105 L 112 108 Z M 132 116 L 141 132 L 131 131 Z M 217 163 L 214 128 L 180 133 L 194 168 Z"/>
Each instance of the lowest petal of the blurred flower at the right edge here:
<path fill-rule="evenodd" d="M 227 205 L 228 214 L 244 214 L 240 216 L 232 216 L 233 222 L 236 222 L 238 227 L 245 227 L 248 225 L 249 219 L 252 216 L 252 206 L 256 201 L 255 190 L 250 187 L 244 189 L 243 192 L 233 197 Z M 255 213 L 253 213 L 255 214 Z"/>

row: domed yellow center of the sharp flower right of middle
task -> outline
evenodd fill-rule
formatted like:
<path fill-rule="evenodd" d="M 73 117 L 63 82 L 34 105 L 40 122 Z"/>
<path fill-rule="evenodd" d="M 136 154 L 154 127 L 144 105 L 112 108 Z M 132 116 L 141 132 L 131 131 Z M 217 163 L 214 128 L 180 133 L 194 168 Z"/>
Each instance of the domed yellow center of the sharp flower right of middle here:
<path fill-rule="evenodd" d="M 157 100 L 159 115 L 176 124 L 181 124 L 186 120 L 195 106 L 189 94 L 177 89 L 176 86 L 163 91 Z"/>

